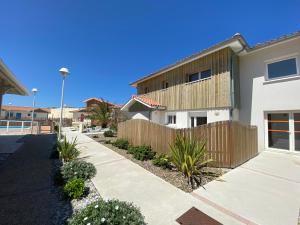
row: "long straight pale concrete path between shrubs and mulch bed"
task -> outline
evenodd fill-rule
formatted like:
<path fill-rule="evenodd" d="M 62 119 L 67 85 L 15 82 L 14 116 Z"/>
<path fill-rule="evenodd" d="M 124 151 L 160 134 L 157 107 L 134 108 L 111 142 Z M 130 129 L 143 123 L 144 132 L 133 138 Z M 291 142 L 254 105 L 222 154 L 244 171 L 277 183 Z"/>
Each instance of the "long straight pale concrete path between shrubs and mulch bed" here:
<path fill-rule="evenodd" d="M 175 220 L 192 206 L 223 224 L 243 224 L 83 134 L 68 132 L 67 137 L 77 137 L 81 157 L 96 166 L 93 183 L 100 195 L 133 202 L 150 225 L 178 225 Z"/>

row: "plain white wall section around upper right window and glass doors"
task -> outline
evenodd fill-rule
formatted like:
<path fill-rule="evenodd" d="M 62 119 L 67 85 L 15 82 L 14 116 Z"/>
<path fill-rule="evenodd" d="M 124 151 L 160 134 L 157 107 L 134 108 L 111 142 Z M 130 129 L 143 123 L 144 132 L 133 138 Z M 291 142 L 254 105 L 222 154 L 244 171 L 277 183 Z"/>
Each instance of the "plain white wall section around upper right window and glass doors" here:
<path fill-rule="evenodd" d="M 262 151 L 265 146 L 264 112 L 300 110 L 300 77 L 279 82 L 266 82 L 265 61 L 295 53 L 298 54 L 299 65 L 300 39 L 240 57 L 241 107 L 239 117 L 242 122 L 258 127 L 259 151 Z"/>

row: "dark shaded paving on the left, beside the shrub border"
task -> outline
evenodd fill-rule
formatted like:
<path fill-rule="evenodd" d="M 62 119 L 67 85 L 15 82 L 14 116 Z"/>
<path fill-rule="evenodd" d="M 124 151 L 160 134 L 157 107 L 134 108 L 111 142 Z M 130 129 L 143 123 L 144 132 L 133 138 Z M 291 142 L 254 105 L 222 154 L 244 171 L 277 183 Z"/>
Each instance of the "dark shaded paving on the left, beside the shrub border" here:
<path fill-rule="evenodd" d="M 50 146 L 54 136 L 26 136 L 24 144 L 0 166 L 0 224 L 51 223 Z"/>

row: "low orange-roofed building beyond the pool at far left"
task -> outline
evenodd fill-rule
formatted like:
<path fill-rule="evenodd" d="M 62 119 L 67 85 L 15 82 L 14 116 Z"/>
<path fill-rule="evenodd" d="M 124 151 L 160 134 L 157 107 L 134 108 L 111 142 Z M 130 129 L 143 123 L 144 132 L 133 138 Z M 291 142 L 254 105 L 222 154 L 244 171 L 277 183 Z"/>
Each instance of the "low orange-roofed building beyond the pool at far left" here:
<path fill-rule="evenodd" d="M 26 106 L 13 106 L 4 105 L 2 106 L 1 119 L 9 120 L 31 120 L 32 118 L 32 107 Z M 48 120 L 49 109 L 35 108 L 33 118 L 34 120 Z"/>

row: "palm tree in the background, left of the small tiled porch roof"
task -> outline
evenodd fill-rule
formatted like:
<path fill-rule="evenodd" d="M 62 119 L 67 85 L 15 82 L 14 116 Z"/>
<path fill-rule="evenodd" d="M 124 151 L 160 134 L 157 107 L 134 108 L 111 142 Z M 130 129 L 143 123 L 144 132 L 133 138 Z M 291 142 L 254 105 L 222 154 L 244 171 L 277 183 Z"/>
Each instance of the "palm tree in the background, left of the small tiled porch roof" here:
<path fill-rule="evenodd" d="M 99 122 L 102 128 L 106 128 L 111 122 L 112 108 L 111 105 L 104 99 L 101 99 L 96 106 L 91 107 L 89 112 L 89 118 Z"/>

